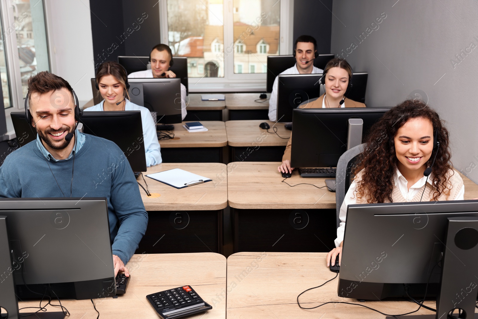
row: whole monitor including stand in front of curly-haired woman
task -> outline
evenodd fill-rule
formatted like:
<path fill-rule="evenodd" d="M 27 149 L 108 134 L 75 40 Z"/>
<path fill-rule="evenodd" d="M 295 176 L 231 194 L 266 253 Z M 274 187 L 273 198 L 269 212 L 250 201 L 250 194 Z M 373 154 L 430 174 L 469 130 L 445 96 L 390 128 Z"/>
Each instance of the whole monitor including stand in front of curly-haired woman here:
<path fill-rule="evenodd" d="M 473 313 L 467 318 L 474 318 L 477 289 L 469 285 L 478 282 L 478 231 L 470 227 L 471 220 L 476 226 L 477 200 L 349 205 L 338 296 L 407 297 L 403 286 L 407 284 L 411 296 L 423 297 L 428 280 L 427 296 L 433 296 L 440 288 L 438 283 L 451 280 L 463 286 L 442 289 L 440 298 L 445 300 L 437 306 L 448 303 L 450 308 L 453 304 L 463 308 L 468 300 Z M 456 222 L 458 227 L 453 229 L 450 224 Z"/>

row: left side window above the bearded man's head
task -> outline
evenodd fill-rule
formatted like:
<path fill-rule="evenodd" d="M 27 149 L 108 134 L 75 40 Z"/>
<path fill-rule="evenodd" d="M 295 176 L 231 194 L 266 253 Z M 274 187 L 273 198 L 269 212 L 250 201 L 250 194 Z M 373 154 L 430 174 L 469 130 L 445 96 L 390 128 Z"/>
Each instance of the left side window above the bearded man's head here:
<path fill-rule="evenodd" d="M 22 109 L 27 81 L 50 70 L 43 0 L 10 0 L 2 6 L 0 77 L 5 108 Z"/>

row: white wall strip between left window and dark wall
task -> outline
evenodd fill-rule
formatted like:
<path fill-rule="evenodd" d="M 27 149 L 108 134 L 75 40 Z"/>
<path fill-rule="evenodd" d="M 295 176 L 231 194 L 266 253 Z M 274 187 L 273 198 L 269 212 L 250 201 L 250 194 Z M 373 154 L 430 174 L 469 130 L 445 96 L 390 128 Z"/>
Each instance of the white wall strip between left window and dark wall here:
<path fill-rule="evenodd" d="M 80 105 L 93 99 L 95 77 L 89 0 L 45 1 L 51 71 L 65 78 Z"/>

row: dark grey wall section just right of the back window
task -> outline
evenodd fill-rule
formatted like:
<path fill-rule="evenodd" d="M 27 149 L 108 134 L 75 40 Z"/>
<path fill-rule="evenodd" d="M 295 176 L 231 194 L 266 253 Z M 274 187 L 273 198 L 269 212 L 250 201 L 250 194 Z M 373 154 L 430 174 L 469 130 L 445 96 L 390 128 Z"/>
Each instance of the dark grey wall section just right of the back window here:
<path fill-rule="evenodd" d="M 332 0 L 294 0 L 293 42 L 303 34 L 311 35 L 319 54 L 335 53 L 330 51 L 331 21 Z"/>

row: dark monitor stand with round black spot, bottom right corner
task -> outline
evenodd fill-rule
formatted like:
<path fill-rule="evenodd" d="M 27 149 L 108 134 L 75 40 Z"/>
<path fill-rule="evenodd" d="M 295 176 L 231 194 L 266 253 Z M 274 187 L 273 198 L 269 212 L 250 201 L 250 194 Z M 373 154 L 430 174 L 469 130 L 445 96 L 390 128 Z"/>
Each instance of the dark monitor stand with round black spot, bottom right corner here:
<path fill-rule="evenodd" d="M 475 217 L 448 218 L 445 254 L 442 262 L 440 294 L 436 298 L 436 314 L 404 316 L 411 319 L 478 319 L 475 305 L 478 291 L 478 219 Z M 465 314 L 448 317 L 453 309 Z M 386 317 L 391 319 L 394 317 Z M 400 318 L 400 317 L 398 317 Z"/>

